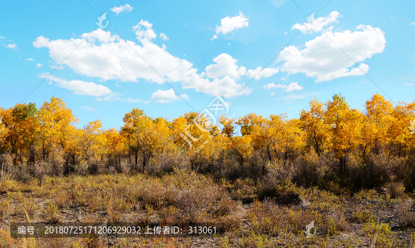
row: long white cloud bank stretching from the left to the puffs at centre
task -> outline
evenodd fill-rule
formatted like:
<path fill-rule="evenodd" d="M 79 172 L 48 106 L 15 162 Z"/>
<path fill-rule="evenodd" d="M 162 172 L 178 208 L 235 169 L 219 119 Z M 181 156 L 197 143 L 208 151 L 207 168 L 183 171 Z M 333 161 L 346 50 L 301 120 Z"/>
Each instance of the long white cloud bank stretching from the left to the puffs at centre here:
<path fill-rule="evenodd" d="M 151 27 L 152 24 L 142 20 L 133 27 L 141 46 L 131 41 L 126 43 L 118 35 L 111 35 L 109 31 L 99 28 L 93 31 L 84 42 L 82 38 L 50 41 L 40 36 L 33 42 L 33 46 L 48 48 L 53 62 L 60 63 L 80 44 L 76 53 L 66 58 L 60 67 L 66 66 L 75 73 L 98 77 L 102 81 L 138 82 L 138 79 L 143 79 L 147 82 L 163 84 L 166 80 L 167 82 L 181 82 L 184 89 L 194 89 L 197 92 L 224 97 L 248 95 L 252 92 L 248 87 L 241 91 L 244 85 L 237 83 L 237 80 L 245 76 L 246 69 L 238 67 L 235 64 L 236 60 L 230 55 L 217 56 L 214 61 L 216 64 L 206 67 L 207 71 L 199 74 L 198 69 L 193 68 L 191 62 L 174 57 L 166 51 L 164 45 L 160 47 L 154 44 L 152 39 L 156 38 L 156 33 Z M 89 33 L 84 33 L 82 37 L 85 38 L 88 35 Z M 221 64 L 223 68 L 220 68 L 218 64 Z M 213 78 L 212 82 L 209 78 Z M 117 97 L 108 96 L 107 100 L 114 100 Z"/>

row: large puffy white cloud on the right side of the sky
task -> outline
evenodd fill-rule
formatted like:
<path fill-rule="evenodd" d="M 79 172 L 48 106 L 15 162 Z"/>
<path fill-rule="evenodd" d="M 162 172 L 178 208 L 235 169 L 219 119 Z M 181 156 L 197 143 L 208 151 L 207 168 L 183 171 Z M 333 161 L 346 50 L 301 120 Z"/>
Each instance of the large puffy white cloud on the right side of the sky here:
<path fill-rule="evenodd" d="M 360 63 L 359 69 L 351 60 L 359 63 L 376 53 L 382 53 L 386 43 L 385 33 L 380 28 L 364 25 L 359 25 L 356 29 L 354 32 L 327 31 L 326 34 L 306 42 L 302 50 L 295 46 L 284 48 L 277 60 L 284 61 L 281 71 L 304 73 L 315 78 L 315 82 L 364 75 L 369 66 Z"/>

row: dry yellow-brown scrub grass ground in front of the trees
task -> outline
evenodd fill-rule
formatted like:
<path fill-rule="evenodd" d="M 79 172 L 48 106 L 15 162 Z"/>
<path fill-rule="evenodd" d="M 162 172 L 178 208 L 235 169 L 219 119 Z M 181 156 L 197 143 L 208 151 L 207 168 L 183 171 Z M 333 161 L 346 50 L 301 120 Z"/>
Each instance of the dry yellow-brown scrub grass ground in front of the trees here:
<path fill-rule="evenodd" d="M 221 222 L 225 236 L 209 241 L 209 247 L 361 247 L 365 243 L 363 237 L 369 238 L 370 243 L 366 243 L 369 247 L 372 244 L 409 247 L 409 239 L 392 241 L 396 234 L 386 223 L 378 224 L 378 218 L 374 217 L 377 210 L 363 204 L 366 200 L 379 202 L 376 191 L 361 191 L 347 198 L 281 182 L 275 184 L 273 192 L 288 197 L 295 195 L 299 200 L 282 204 L 279 197 L 260 200 L 264 193 L 260 180 L 215 181 L 195 172 L 176 170 L 160 177 L 123 174 L 46 177 L 40 186 L 37 181 L 8 181 L 0 184 L 8 192 L 0 200 L 0 214 L 3 222 L 24 221 L 19 211 L 24 204 L 36 222 Z M 255 200 L 241 202 L 246 199 Z M 353 204 L 347 206 L 345 201 Z M 37 208 L 30 209 L 33 205 Z M 397 209 L 400 222 L 414 227 L 412 200 L 405 200 Z M 349 218 L 345 217 L 346 213 Z M 313 220 L 317 234 L 306 238 L 306 225 Z M 347 220 L 353 223 L 352 229 Z M 348 237 L 345 233 L 353 235 L 345 238 Z M 18 247 L 18 242 L 23 245 L 22 240 L 10 241 L 6 233 L 0 232 L 0 248 L 3 243 L 6 244 L 3 247 Z M 111 241 L 111 246 L 190 247 L 194 242 L 118 238 Z M 108 247 L 108 243 L 105 238 L 36 240 L 37 247 Z"/>

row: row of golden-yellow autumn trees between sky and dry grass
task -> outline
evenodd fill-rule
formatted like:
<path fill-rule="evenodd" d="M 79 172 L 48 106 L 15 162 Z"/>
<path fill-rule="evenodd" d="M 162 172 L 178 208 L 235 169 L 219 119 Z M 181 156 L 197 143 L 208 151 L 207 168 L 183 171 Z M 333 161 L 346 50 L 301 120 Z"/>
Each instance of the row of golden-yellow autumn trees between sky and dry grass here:
<path fill-rule="evenodd" d="M 169 121 L 134 108 L 124 114 L 120 130 L 103 130 L 99 119 L 76 127 L 79 121 L 60 98 L 40 107 L 0 108 L 1 180 L 37 178 L 42 183 L 46 175 L 157 174 L 182 168 L 217 178 L 266 177 L 306 186 L 399 181 L 413 188 L 415 134 L 409 125 L 415 101 L 393 105 L 374 94 L 360 111 L 336 94 L 326 103 L 314 98 L 309 105 L 291 119 L 284 113 L 223 115 L 219 125 L 206 126 L 209 135 L 190 125 L 198 120 L 196 112 Z M 204 139 L 190 146 L 181 135 L 186 127 Z"/>

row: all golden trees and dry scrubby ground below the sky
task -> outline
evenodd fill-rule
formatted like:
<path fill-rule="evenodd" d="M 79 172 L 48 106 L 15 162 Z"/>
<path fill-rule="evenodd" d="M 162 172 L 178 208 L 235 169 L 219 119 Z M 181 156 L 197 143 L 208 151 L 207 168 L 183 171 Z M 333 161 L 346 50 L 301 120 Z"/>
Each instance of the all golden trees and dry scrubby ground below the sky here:
<path fill-rule="evenodd" d="M 83 129 L 59 98 L 0 109 L 0 247 L 415 247 L 415 103 L 342 96 L 299 119 L 140 109 Z M 198 138 L 192 147 L 180 135 Z M 236 135 L 235 130 L 241 135 Z M 210 134 L 210 138 L 207 138 Z M 203 144 L 203 147 L 202 147 Z M 219 238 L 10 238 L 10 222 L 223 222 Z M 306 224 L 317 233 L 306 238 Z"/>

